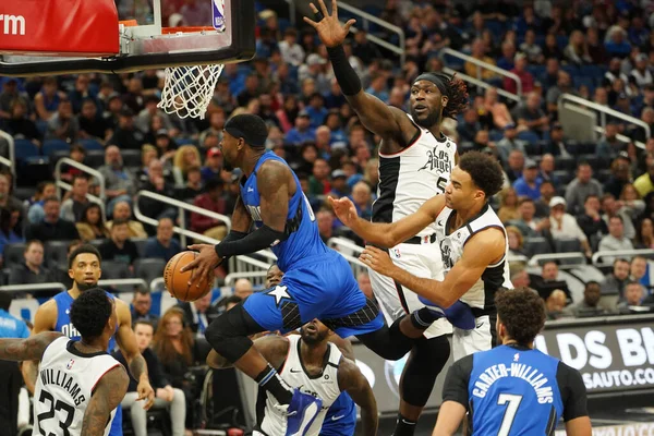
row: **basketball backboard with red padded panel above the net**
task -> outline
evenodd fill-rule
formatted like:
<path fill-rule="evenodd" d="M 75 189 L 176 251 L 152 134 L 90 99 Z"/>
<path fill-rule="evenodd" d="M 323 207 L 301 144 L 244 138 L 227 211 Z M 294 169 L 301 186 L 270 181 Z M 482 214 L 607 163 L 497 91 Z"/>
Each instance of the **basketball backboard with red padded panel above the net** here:
<path fill-rule="evenodd" d="M 229 63 L 254 52 L 254 0 L 0 2 L 0 75 Z"/>

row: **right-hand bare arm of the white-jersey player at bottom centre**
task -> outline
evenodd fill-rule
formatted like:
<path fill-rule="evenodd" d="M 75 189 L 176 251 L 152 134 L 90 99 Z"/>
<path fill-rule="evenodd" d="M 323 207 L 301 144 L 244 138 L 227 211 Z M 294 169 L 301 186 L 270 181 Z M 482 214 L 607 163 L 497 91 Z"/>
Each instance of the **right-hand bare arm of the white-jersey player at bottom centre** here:
<path fill-rule="evenodd" d="M 361 374 L 356 364 L 346 358 L 341 359 L 338 366 L 338 386 L 341 391 L 346 390 L 352 400 L 361 408 L 361 422 L 363 434 L 374 436 L 377 434 L 379 416 L 377 414 L 377 401 L 367 379 Z"/>

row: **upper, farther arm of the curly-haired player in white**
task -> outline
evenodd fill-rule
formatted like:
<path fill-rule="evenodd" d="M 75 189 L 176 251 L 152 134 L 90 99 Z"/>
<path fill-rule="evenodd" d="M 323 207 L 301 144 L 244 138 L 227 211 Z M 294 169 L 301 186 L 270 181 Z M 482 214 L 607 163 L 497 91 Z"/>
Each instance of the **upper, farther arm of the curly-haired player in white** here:
<path fill-rule="evenodd" d="M 329 197 L 329 202 L 331 202 L 338 218 L 354 233 L 370 244 L 385 247 L 396 246 L 409 238 L 413 238 L 422 229 L 434 222 L 445 207 L 445 196 L 436 195 L 426 201 L 415 214 L 411 214 L 396 222 L 385 223 L 371 222 L 360 218 L 356 215 L 354 204 L 348 197 L 339 199 Z"/>

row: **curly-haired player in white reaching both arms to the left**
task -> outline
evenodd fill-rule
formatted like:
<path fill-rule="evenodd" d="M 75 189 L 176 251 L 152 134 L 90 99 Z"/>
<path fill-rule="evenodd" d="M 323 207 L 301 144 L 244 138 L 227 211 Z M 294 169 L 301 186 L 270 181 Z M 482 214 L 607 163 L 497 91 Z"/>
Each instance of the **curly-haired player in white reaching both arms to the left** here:
<path fill-rule="evenodd" d="M 367 222 L 356 217 L 349 199 L 332 201 L 336 214 L 346 226 L 380 246 L 393 246 L 427 223 L 436 222 L 446 269 L 444 280 L 416 277 L 396 266 L 385 251 L 374 246 L 366 246 L 361 259 L 412 289 L 426 299 L 423 301 L 449 307 L 460 300 L 472 308 L 475 328 L 462 331 L 455 327 L 455 359 L 488 350 L 495 344 L 495 292 L 499 288 L 513 287 L 509 278 L 506 230 L 488 205 L 488 198 L 501 189 L 502 179 L 497 159 L 469 152 L 452 170 L 445 195 L 435 196 L 415 214 L 397 222 Z"/>

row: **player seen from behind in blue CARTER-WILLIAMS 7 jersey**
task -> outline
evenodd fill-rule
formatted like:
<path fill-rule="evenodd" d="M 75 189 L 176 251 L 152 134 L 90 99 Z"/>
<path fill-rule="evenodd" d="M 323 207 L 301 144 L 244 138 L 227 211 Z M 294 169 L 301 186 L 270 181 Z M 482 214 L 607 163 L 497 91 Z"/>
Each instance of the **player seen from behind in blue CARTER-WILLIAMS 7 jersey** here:
<path fill-rule="evenodd" d="M 568 436 L 591 436 L 581 375 L 534 350 L 545 325 L 543 300 L 528 288 L 500 290 L 495 306 L 501 346 L 450 367 L 434 436 L 455 435 L 467 412 L 473 436 L 552 436 L 561 416 Z"/>

